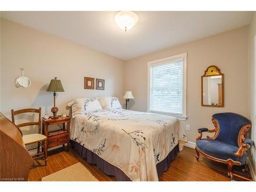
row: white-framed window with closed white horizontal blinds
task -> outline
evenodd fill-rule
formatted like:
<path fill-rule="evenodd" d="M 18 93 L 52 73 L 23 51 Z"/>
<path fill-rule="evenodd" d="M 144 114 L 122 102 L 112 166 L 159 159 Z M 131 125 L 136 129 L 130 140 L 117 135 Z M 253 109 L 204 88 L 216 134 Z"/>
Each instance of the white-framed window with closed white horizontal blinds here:
<path fill-rule="evenodd" d="M 187 54 L 148 62 L 147 111 L 186 120 Z"/>

